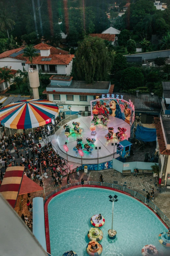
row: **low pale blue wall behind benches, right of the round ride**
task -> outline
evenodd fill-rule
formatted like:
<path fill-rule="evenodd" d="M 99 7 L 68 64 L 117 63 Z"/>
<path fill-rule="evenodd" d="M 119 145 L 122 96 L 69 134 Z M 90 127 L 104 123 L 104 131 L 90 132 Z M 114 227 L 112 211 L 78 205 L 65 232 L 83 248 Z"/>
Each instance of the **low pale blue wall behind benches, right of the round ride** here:
<path fill-rule="evenodd" d="M 116 171 L 122 173 L 122 170 L 131 170 L 131 173 L 134 172 L 134 169 L 142 169 L 142 170 L 152 170 L 151 165 L 155 163 L 145 163 L 145 162 L 126 162 L 124 164 L 129 164 L 127 167 L 123 167 L 123 163 L 117 159 L 113 158 L 112 168 Z M 158 164 L 158 163 L 156 163 Z"/>

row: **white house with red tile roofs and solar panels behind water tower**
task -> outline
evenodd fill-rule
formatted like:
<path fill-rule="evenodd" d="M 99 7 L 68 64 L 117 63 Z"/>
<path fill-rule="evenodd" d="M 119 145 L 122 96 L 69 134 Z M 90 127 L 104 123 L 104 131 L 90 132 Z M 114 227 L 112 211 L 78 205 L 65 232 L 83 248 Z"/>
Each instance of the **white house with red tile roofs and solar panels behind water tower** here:
<path fill-rule="evenodd" d="M 24 67 L 28 71 L 32 64 L 27 57 L 23 56 L 24 48 L 25 46 L 1 53 L 0 67 L 11 67 L 14 70 L 22 70 Z M 44 73 L 70 75 L 74 55 L 44 43 L 35 45 L 34 48 L 39 54 L 33 58 L 34 69 L 41 69 Z"/>

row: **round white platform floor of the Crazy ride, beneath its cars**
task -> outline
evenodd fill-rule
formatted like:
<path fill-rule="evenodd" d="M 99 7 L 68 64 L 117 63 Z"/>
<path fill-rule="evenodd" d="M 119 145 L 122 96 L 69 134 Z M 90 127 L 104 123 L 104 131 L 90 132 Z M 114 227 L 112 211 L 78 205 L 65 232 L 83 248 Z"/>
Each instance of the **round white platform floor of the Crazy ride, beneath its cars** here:
<path fill-rule="evenodd" d="M 99 116 L 99 118 L 100 117 L 102 116 Z M 67 146 L 69 149 L 69 151 L 67 152 L 68 156 L 81 159 L 81 156 L 78 154 L 78 152 L 76 153 L 73 151 L 73 148 L 77 144 L 77 141 L 76 141 L 77 138 L 82 137 L 82 144 L 84 144 L 84 143 L 87 143 L 86 141 L 87 137 L 89 138 L 93 137 L 96 139 L 95 143 L 91 145 L 94 148 L 94 150 L 91 153 L 83 150 L 84 152 L 83 159 L 96 159 L 97 150 L 95 150 L 95 147 L 101 147 L 101 150 L 99 150 L 99 158 L 111 155 L 114 152 L 114 146 L 112 146 L 111 143 L 119 142 L 120 140 L 118 140 L 117 138 L 106 140 L 105 135 L 108 133 L 108 127 L 113 127 L 114 133 L 118 132 L 118 127 L 126 128 L 127 131 L 123 134 L 123 136 L 124 136 L 124 139 L 128 140 L 128 137 L 130 137 L 130 125 L 125 121 L 123 121 L 122 119 L 119 119 L 116 117 L 109 117 L 109 119 L 107 120 L 108 120 L 107 125 L 103 125 L 101 123 L 95 125 L 96 135 L 92 136 L 91 130 L 90 130 L 91 121 L 92 121 L 91 116 L 74 119 L 75 122 L 80 123 L 80 128 L 83 130 L 82 133 L 81 134 L 73 133 L 68 137 L 66 137 L 64 135 L 64 132 L 65 132 L 64 127 L 61 126 L 61 128 L 57 130 L 57 132 L 53 136 L 52 143 L 54 147 L 56 148 L 59 147 L 59 149 L 65 153 L 63 145 L 65 144 L 65 142 L 67 142 Z M 69 125 L 70 127 L 73 127 L 72 122 L 73 120 L 68 121 L 67 125 Z M 117 149 L 117 146 L 115 146 L 115 152 L 116 152 L 116 149 Z"/>

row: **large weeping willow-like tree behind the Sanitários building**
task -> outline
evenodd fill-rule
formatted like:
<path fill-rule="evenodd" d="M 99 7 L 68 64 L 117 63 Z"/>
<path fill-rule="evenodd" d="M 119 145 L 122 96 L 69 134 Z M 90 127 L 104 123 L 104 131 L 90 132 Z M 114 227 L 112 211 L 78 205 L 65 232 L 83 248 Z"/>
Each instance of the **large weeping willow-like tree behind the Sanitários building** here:
<path fill-rule="evenodd" d="M 87 83 L 107 80 L 111 58 L 101 38 L 85 37 L 79 42 L 75 56 L 73 73 L 77 73 L 75 75 L 79 80 L 85 80 Z"/>

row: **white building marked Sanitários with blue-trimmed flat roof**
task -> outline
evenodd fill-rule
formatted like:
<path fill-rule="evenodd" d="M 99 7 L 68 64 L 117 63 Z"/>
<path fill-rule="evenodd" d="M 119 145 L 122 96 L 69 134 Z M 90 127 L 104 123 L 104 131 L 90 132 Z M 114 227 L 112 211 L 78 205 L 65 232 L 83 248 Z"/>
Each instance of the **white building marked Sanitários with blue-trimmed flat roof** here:
<path fill-rule="evenodd" d="M 50 84 L 43 94 L 47 94 L 49 101 L 55 102 L 59 111 L 70 109 L 74 112 L 91 111 L 90 102 L 106 98 L 113 92 L 114 85 L 110 82 L 93 82 L 87 84 L 84 81 L 73 81 L 73 77 L 53 75 L 50 77 Z M 113 95 L 112 95 L 113 96 Z M 114 98 L 114 97 L 113 97 Z"/>

